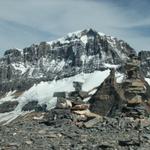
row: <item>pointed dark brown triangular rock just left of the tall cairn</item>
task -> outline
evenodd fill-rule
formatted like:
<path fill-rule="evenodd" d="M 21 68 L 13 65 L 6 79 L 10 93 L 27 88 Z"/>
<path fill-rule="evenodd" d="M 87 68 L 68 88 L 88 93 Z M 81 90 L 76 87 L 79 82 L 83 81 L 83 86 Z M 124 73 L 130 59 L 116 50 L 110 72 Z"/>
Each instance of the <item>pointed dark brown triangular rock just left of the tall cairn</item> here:
<path fill-rule="evenodd" d="M 114 116 L 117 111 L 120 111 L 122 101 L 112 70 L 90 99 L 90 110 L 102 116 Z"/>

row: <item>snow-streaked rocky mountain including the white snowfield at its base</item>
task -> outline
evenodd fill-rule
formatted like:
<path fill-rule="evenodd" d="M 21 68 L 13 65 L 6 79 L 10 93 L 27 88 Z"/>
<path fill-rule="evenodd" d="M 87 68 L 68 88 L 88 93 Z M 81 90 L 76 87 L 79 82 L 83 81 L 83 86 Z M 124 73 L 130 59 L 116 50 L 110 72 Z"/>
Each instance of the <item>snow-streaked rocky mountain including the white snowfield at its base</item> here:
<path fill-rule="evenodd" d="M 0 59 L 0 122 L 11 122 L 31 110 L 45 110 L 45 105 L 47 110 L 54 108 L 54 95 L 72 93 L 75 82 L 83 83 L 82 94 L 87 96 L 81 97 L 86 102 L 109 76 L 110 68 L 116 70 L 118 86 L 125 77 L 124 65 L 131 54 L 136 55 L 136 51 L 123 40 L 93 29 L 22 50 L 7 50 Z M 139 52 L 141 72 L 147 81 L 149 54 Z"/>

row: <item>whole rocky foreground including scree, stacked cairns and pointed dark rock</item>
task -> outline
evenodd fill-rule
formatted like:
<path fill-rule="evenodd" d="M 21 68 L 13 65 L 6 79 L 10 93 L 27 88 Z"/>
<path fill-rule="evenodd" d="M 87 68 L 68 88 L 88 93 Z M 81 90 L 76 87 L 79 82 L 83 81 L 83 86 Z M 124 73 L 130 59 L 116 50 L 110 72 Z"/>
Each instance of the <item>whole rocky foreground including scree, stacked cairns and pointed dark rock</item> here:
<path fill-rule="evenodd" d="M 0 150 L 149 150 L 150 87 L 138 64 L 133 56 L 120 84 L 112 69 L 89 102 L 80 82 L 67 97 L 54 93 L 57 104 L 51 110 L 29 102 L 22 111 L 33 112 L 0 126 Z"/>

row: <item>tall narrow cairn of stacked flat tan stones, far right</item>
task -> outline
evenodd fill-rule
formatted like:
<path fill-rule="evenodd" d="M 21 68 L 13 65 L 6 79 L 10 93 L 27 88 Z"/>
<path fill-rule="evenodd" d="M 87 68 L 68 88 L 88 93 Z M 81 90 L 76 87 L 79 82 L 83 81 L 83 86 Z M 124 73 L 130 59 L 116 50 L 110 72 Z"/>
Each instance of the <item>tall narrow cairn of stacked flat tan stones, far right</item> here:
<path fill-rule="evenodd" d="M 123 112 L 127 116 L 141 117 L 146 115 L 144 96 L 146 93 L 145 81 L 140 74 L 140 60 L 135 54 L 131 54 L 125 65 L 126 79 L 123 82 L 126 106 Z"/>

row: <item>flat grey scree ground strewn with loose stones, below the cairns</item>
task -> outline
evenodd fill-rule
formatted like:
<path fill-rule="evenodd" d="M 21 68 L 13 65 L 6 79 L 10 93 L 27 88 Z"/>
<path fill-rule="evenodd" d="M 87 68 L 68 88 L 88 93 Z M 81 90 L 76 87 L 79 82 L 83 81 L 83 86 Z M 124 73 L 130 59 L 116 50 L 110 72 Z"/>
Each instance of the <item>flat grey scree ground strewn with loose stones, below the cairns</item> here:
<path fill-rule="evenodd" d="M 0 137 L 0 150 L 148 150 L 150 119 L 87 119 L 69 109 L 53 109 L 1 125 Z"/>

